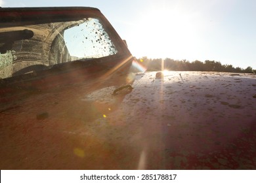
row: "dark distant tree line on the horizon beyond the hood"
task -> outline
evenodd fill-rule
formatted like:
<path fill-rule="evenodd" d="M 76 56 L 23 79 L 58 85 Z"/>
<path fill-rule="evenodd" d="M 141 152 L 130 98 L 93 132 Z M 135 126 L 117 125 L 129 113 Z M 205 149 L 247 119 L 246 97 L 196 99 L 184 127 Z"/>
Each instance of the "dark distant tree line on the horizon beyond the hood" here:
<path fill-rule="evenodd" d="M 169 71 L 215 71 L 215 72 L 228 72 L 228 73 L 254 73 L 256 70 L 252 67 L 242 69 L 240 67 L 233 67 L 232 65 L 222 65 L 219 61 L 205 60 L 202 61 L 187 61 L 175 59 L 149 59 L 147 57 L 139 58 L 137 61 L 146 67 L 146 71 L 161 71 L 167 69 Z"/>

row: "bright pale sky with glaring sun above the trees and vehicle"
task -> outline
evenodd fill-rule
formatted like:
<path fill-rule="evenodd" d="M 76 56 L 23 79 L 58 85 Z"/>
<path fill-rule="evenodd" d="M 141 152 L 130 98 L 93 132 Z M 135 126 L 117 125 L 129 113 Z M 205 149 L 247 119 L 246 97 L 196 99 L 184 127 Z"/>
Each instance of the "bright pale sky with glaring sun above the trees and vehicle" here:
<path fill-rule="evenodd" d="M 255 0 L 0 0 L 2 7 L 96 7 L 133 56 L 256 69 Z"/>

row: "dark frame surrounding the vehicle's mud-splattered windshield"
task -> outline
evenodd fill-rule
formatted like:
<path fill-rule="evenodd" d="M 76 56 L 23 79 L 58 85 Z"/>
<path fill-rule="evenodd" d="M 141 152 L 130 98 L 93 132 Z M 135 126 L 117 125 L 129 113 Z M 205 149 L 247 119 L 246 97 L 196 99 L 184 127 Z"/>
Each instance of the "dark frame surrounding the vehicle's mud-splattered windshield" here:
<path fill-rule="evenodd" d="M 112 59 L 125 58 L 131 56 L 127 45 L 119 37 L 116 30 L 105 16 L 97 8 L 91 7 L 30 7 L 30 8 L 0 8 L 0 28 L 2 27 L 16 27 L 18 25 L 44 24 L 49 22 L 69 22 L 74 20 L 81 20 L 84 18 L 97 18 L 104 30 L 108 33 L 108 37 L 116 46 L 117 53 L 111 56 L 102 58 L 92 58 L 90 61 L 84 61 L 83 65 L 92 63 L 104 63 Z M 77 59 L 74 61 L 83 61 Z M 65 64 L 70 64 L 74 61 L 55 65 L 62 67 Z M 26 74 L 25 74 L 26 75 Z M 12 76 L 16 77 L 16 76 Z M 9 77 L 9 78 L 12 78 Z M 8 79 L 8 78 L 3 78 Z"/>

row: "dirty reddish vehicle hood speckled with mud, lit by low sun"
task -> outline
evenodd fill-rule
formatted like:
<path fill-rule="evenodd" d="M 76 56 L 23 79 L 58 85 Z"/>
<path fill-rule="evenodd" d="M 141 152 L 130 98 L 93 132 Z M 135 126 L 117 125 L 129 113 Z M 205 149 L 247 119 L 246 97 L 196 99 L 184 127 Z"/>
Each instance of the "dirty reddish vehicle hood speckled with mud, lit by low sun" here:
<path fill-rule="evenodd" d="M 119 79 L 36 93 L 2 111 L 0 168 L 256 169 L 255 75 Z"/>

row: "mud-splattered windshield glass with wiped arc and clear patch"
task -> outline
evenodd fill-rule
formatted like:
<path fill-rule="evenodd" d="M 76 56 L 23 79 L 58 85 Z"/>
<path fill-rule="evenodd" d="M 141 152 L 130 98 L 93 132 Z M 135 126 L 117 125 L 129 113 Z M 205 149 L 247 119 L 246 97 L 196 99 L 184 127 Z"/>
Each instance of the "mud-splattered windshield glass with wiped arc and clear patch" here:
<path fill-rule="evenodd" d="M 40 19 L 20 23 L 0 18 L 0 78 L 117 54 L 100 18 Z"/>

